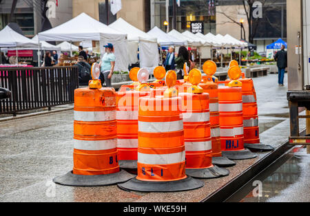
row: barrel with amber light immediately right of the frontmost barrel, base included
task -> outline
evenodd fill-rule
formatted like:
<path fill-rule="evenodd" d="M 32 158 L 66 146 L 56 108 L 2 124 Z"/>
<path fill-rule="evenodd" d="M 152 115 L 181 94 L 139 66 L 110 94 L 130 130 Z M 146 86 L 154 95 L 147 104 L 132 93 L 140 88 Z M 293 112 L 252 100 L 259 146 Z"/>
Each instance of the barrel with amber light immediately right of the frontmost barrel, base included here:
<path fill-rule="evenodd" d="M 195 77 L 196 76 L 196 82 Z M 180 94 L 184 122 L 186 173 L 192 177 L 214 178 L 229 175 L 229 171 L 212 164 L 209 94 L 198 87 L 201 73 L 193 69 L 189 73 L 192 83 L 189 92 Z"/>

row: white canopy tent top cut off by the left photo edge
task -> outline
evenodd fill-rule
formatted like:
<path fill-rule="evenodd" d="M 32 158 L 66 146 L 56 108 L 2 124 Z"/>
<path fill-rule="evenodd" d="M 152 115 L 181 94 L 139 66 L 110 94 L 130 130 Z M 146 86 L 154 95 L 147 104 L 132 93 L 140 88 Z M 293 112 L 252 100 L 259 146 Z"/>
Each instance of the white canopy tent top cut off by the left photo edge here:
<path fill-rule="evenodd" d="M 0 31 L 0 47 L 36 47 L 38 43 L 15 32 L 8 25 Z"/>

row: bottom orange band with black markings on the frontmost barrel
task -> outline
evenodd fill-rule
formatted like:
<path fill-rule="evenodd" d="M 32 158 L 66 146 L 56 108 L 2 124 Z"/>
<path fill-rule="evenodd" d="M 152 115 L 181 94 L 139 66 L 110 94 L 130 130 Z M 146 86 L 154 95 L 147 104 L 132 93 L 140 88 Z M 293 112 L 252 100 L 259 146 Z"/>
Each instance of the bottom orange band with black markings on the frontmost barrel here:
<path fill-rule="evenodd" d="M 185 175 L 185 161 L 176 164 L 156 165 L 138 162 L 137 180 L 149 182 L 167 182 L 183 180 Z"/>

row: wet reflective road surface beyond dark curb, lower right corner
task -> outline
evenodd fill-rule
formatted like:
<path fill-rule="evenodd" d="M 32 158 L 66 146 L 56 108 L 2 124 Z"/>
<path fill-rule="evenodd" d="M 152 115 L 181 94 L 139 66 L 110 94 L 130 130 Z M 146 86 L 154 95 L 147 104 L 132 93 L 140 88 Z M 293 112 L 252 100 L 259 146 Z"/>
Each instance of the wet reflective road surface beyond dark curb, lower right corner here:
<path fill-rule="evenodd" d="M 227 202 L 310 202 L 310 155 L 296 147 L 254 177 Z M 256 182 L 255 182 L 256 181 Z M 261 194 L 259 194 L 259 184 Z"/>

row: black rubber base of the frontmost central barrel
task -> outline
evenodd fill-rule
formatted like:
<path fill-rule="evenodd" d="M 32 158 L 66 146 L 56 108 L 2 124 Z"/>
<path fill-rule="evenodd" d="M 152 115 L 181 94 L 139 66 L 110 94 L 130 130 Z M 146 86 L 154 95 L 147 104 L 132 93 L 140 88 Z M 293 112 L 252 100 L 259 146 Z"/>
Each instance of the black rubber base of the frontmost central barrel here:
<path fill-rule="evenodd" d="M 137 180 L 134 177 L 132 180 L 117 184 L 117 186 L 125 191 L 139 191 L 139 192 L 178 192 L 178 191 L 190 191 L 197 188 L 201 188 L 205 185 L 205 182 L 196 180 L 190 176 L 187 176 L 184 180 L 172 181 L 172 182 L 146 182 Z"/>

